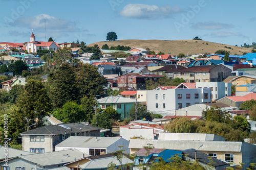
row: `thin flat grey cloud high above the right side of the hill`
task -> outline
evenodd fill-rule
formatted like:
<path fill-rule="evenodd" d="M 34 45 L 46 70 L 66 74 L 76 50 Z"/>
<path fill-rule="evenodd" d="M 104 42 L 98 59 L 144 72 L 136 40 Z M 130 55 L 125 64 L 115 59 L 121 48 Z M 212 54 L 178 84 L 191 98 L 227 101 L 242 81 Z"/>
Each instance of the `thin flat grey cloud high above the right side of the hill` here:
<path fill-rule="evenodd" d="M 192 27 L 200 30 L 220 30 L 220 29 L 233 28 L 234 26 L 227 23 L 210 21 L 210 22 L 198 22 Z"/>

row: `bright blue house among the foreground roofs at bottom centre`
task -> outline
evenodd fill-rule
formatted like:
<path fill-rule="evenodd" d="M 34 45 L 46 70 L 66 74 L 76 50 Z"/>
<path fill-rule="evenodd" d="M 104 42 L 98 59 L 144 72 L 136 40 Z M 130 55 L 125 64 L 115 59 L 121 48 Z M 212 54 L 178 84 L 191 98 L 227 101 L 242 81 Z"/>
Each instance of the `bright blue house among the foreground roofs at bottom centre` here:
<path fill-rule="evenodd" d="M 167 163 L 170 160 L 170 158 L 175 157 L 175 155 L 178 155 L 179 157 L 182 157 L 181 151 L 176 150 L 168 150 L 168 149 L 152 149 L 150 151 L 146 151 L 144 148 L 135 152 L 134 155 L 136 155 L 135 158 L 135 165 L 138 165 L 140 163 L 150 163 L 150 162 L 158 162 L 158 159 L 156 158 L 163 158 L 163 160 Z"/>

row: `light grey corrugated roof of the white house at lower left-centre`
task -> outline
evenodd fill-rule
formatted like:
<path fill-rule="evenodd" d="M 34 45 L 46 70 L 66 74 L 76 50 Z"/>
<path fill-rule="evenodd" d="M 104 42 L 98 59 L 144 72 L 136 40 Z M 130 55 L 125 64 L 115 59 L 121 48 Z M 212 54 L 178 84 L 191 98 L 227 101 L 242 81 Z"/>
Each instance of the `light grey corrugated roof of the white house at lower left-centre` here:
<path fill-rule="evenodd" d="M 78 148 L 108 148 L 118 140 L 125 140 L 121 137 L 91 137 L 91 136 L 70 136 L 57 144 L 56 147 L 78 147 Z"/>

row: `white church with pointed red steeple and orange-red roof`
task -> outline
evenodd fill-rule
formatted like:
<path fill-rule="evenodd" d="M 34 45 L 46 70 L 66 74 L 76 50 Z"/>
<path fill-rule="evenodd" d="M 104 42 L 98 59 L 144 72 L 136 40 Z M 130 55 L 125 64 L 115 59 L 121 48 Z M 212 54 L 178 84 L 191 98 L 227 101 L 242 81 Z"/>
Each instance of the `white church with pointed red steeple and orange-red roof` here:
<path fill-rule="evenodd" d="M 41 47 L 42 50 L 53 50 L 53 51 L 56 51 L 58 48 L 60 48 L 60 46 L 54 41 L 49 41 L 49 42 L 35 41 L 35 36 L 33 32 L 30 36 L 30 42 L 25 42 L 25 45 L 28 53 L 36 53 L 39 47 Z"/>

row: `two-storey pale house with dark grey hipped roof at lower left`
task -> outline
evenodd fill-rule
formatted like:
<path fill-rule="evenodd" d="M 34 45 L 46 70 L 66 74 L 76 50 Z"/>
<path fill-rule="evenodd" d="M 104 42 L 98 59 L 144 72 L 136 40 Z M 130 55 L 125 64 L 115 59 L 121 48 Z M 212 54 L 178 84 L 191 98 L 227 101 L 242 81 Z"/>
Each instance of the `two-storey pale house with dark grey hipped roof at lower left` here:
<path fill-rule="evenodd" d="M 83 124 L 44 126 L 21 133 L 23 151 L 45 153 L 55 151 L 55 145 L 69 136 L 99 136 L 100 128 Z"/>

